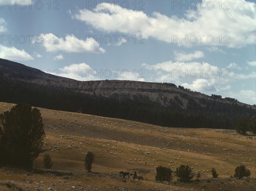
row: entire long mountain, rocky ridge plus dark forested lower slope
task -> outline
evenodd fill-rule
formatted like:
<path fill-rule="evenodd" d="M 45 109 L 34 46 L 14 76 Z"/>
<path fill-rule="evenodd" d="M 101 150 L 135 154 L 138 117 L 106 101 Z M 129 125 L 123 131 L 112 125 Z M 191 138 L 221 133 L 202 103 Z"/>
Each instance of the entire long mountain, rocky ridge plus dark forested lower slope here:
<path fill-rule="evenodd" d="M 0 63 L 2 102 L 30 103 L 164 127 L 234 129 L 241 117 L 249 120 L 256 115 L 255 106 L 172 83 L 76 81 L 12 61 L 1 59 Z"/>

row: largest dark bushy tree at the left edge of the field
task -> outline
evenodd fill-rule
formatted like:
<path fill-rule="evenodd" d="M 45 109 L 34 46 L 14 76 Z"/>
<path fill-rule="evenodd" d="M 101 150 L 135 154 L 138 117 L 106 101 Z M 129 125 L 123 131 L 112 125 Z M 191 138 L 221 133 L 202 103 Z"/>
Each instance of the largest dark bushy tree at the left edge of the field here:
<path fill-rule="evenodd" d="M 30 104 L 17 104 L 0 115 L 0 163 L 32 167 L 43 150 L 44 124 L 41 113 Z"/>

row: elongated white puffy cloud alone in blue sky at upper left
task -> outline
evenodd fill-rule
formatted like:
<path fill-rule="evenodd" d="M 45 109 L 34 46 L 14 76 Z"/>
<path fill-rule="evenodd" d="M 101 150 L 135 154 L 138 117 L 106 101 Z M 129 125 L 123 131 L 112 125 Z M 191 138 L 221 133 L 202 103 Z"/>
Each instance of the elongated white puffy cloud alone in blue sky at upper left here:
<path fill-rule="evenodd" d="M 105 49 L 99 46 L 93 38 L 87 38 L 85 41 L 76 38 L 74 35 L 66 35 L 65 39 L 58 38 L 52 33 L 41 34 L 43 39 L 51 39 L 49 41 L 44 40 L 42 43 L 46 48 L 47 52 L 93 52 L 93 53 L 104 53 Z"/>

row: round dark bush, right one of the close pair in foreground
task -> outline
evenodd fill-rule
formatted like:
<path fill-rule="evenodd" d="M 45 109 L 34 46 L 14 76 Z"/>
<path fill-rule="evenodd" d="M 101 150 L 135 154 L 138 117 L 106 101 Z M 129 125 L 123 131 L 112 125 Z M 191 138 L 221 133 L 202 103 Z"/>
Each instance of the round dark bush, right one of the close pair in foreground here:
<path fill-rule="evenodd" d="M 175 175 L 180 182 L 189 182 L 194 177 L 192 169 L 188 165 L 180 165 L 177 167 Z"/>

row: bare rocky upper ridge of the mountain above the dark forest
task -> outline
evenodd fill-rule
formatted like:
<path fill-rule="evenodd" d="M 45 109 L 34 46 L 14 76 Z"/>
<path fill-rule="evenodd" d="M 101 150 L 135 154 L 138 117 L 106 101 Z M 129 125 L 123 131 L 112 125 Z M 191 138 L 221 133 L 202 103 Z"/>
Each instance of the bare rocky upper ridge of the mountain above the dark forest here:
<path fill-rule="evenodd" d="M 177 87 L 172 83 L 142 82 L 129 80 L 100 80 L 100 81 L 77 81 L 45 73 L 39 69 L 28 67 L 24 64 L 0 58 L 1 78 L 15 79 L 19 81 L 32 82 L 53 87 L 64 87 L 76 92 L 91 95 L 102 95 L 103 97 L 115 94 L 127 95 L 134 99 L 138 95 L 148 96 L 151 101 L 159 102 L 165 106 L 173 106 L 172 99 L 180 100 L 180 107 L 186 107 L 189 99 L 194 99 L 201 106 L 199 99 L 221 101 L 224 104 L 239 104 L 246 107 L 255 107 L 250 104 L 241 103 L 231 98 L 230 100 L 215 96 L 208 96 L 200 92 L 190 91 L 183 87 Z"/>

